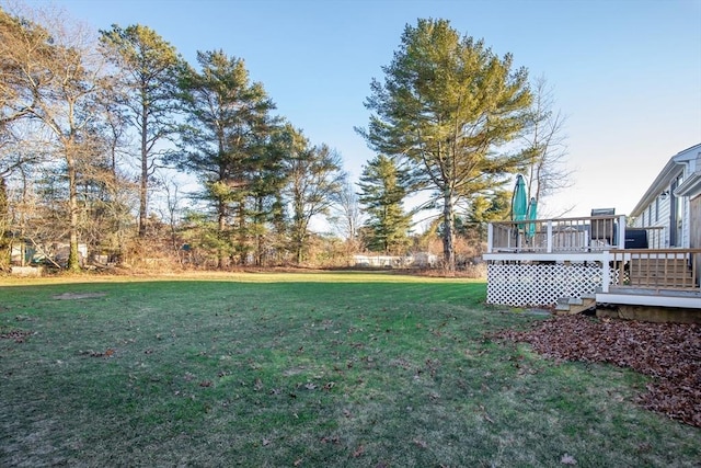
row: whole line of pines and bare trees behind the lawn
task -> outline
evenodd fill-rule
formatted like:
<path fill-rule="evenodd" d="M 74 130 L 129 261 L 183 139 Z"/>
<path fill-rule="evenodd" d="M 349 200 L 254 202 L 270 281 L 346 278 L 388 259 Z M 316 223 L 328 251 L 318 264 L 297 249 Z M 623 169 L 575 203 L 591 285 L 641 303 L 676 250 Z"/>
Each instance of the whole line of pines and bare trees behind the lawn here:
<path fill-rule="evenodd" d="M 81 244 L 102 262 L 160 252 L 218 269 L 302 264 L 320 242 L 402 254 L 428 210 L 439 215 L 423 236 L 441 239 L 453 271 L 457 238 L 479 244 L 484 222 L 508 217 L 514 173 L 537 197 L 560 187 L 562 117 L 510 55 L 418 20 L 382 71 L 356 128 L 377 156 L 353 183 L 337 151 L 274 114 L 240 57 L 188 64 L 148 26 L 94 34 L 0 9 L 0 269 L 18 242 L 68 270 L 88 260 Z M 319 216 L 343 239 L 314 233 Z"/>

